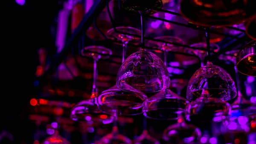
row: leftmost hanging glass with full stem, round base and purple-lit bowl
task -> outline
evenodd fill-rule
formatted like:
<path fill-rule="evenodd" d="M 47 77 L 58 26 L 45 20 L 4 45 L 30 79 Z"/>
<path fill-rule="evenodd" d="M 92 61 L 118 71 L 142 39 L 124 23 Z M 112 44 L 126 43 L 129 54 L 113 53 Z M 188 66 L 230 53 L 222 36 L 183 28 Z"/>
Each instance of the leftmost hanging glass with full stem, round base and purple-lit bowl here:
<path fill-rule="evenodd" d="M 107 112 L 102 112 L 97 106 L 97 61 L 99 59 L 106 59 L 112 54 L 112 51 L 103 46 L 87 46 L 82 49 L 82 56 L 93 58 L 93 89 L 90 99 L 83 100 L 77 103 L 71 109 L 70 117 L 74 121 L 93 121 L 103 124 L 113 122 L 113 113 L 111 107 L 102 106 Z M 108 107 L 108 108 L 107 108 Z M 108 110 L 107 110 L 108 109 Z"/>

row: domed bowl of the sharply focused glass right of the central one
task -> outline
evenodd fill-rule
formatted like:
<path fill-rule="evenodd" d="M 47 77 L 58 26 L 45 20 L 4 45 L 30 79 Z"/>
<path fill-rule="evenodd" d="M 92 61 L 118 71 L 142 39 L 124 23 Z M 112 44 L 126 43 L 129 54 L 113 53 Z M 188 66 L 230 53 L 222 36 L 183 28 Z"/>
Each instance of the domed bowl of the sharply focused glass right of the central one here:
<path fill-rule="evenodd" d="M 236 84 L 226 70 L 207 62 L 198 69 L 189 80 L 186 97 L 190 101 L 200 98 L 202 91 L 207 90 L 210 98 L 229 101 L 236 97 Z"/>

